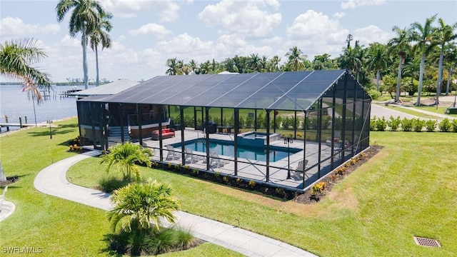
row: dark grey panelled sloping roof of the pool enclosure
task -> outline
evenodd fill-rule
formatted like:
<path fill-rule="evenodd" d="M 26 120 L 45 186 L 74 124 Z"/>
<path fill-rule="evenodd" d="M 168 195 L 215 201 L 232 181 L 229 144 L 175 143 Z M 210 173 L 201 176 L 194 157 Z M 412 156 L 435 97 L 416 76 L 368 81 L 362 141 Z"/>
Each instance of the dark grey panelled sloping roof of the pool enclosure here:
<path fill-rule="evenodd" d="M 322 70 L 156 76 L 119 94 L 79 101 L 305 111 L 345 74 Z"/>

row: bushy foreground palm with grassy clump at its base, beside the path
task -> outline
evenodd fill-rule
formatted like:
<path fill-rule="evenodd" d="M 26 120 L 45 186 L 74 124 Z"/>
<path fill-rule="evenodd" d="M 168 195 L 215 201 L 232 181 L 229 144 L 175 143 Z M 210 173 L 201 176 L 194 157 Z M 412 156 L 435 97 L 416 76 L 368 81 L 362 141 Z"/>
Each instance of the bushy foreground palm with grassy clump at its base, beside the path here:
<path fill-rule="evenodd" d="M 193 246 L 189 231 L 163 226 L 165 220 L 175 222 L 173 212 L 179 209 L 171 193 L 170 186 L 151 179 L 115 190 L 108 214 L 113 233 L 106 237 L 110 248 L 119 254 L 157 255 Z"/>

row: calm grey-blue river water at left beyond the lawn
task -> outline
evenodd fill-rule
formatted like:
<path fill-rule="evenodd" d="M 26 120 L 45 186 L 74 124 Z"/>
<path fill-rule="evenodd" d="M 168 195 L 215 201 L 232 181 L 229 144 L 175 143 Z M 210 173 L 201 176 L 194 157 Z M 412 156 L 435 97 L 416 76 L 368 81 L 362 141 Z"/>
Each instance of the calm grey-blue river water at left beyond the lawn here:
<path fill-rule="evenodd" d="M 5 116 L 8 117 L 9 123 L 19 123 L 19 117 L 22 123 L 35 124 L 46 121 L 56 121 L 59 119 L 76 116 L 76 99 L 74 97 L 62 97 L 60 94 L 74 86 L 53 86 L 51 97 L 44 100 L 42 104 L 37 105 L 36 100 L 32 100 L 27 92 L 22 91 L 19 85 L 0 85 L 0 123 L 5 123 Z M 76 86 L 77 89 L 84 89 L 84 86 Z M 34 110 L 35 108 L 35 110 Z M 16 130 L 19 127 L 10 127 L 10 130 Z M 1 132 L 6 128 L 1 128 Z"/>

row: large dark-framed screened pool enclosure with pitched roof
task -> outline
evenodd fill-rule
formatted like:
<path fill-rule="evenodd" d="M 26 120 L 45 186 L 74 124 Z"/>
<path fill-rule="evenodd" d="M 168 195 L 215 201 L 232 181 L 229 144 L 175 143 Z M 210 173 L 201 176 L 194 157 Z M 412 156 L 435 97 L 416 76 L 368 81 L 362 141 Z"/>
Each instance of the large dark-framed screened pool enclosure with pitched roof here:
<path fill-rule="evenodd" d="M 345 70 L 156 76 L 77 107 L 86 145 L 297 191 L 369 146 L 371 98 Z"/>

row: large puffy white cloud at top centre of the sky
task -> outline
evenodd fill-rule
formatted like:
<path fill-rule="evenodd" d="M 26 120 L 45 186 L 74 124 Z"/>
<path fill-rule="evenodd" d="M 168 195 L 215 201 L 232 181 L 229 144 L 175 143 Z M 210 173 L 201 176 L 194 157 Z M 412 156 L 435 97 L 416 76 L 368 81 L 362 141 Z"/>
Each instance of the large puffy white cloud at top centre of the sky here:
<path fill-rule="evenodd" d="M 206 6 L 198 18 L 206 26 L 221 26 L 225 34 L 260 38 L 270 34 L 282 21 L 281 13 L 271 13 L 268 7 L 278 8 L 278 1 L 222 0 Z"/>

